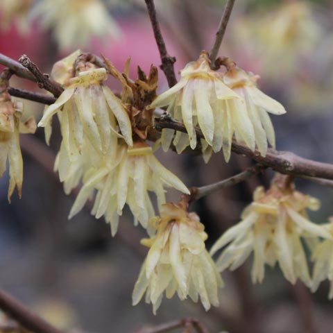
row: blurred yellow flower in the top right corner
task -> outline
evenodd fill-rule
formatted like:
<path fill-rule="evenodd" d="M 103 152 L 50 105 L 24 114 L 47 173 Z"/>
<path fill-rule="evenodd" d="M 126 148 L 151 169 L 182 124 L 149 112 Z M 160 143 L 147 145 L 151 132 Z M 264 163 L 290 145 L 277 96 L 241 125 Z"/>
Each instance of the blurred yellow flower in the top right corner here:
<path fill-rule="evenodd" d="M 309 1 L 281 1 L 269 12 L 257 12 L 239 21 L 235 25 L 236 40 L 250 44 L 271 78 L 293 75 L 298 62 L 315 51 L 323 35 L 313 11 Z"/>

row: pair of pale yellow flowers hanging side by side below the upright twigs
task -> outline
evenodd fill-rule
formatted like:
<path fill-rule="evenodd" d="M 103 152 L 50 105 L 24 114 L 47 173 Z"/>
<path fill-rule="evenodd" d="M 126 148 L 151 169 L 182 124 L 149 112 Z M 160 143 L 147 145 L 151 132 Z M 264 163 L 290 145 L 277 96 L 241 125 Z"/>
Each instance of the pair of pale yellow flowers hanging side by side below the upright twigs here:
<path fill-rule="evenodd" d="M 207 52 L 200 53 L 195 62 L 189 62 L 180 71 L 180 81 L 167 92 L 157 96 L 150 108 L 168 106 L 174 119 L 184 122 L 185 133 L 164 129 L 162 147 L 169 149 L 171 142 L 181 153 L 187 146 L 196 148 L 194 126 L 199 126 L 205 141 L 204 150 L 211 146 L 216 153 L 223 149 L 225 160 L 230 159 L 232 137 L 251 150 L 255 145 L 261 155 L 266 155 L 267 140 L 275 146 L 275 135 L 267 112 L 284 114 L 283 106 L 259 89 L 258 76 L 247 74 L 234 64 L 225 74 L 210 69 Z"/>

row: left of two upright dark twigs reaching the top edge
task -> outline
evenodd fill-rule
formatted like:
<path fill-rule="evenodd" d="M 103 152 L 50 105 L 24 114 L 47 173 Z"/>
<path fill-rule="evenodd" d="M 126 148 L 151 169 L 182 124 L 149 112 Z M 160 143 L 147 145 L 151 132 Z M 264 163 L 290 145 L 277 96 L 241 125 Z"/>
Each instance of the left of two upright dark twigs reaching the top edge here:
<path fill-rule="evenodd" d="M 154 37 L 156 40 L 158 51 L 160 52 L 160 58 L 162 65 L 160 68 L 164 71 L 164 75 L 168 80 L 169 87 L 176 85 L 176 75 L 173 69 L 173 64 L 176 62 L 175 57 L 169 56 L 167 52 L 167 47 L 165 46 L 163 36 L 160 29 L 160 24 L 157 21 L 156 10 L 153 0 L 144 0 L 148 9 L 148 14 L 151 19 L 151 26 L 153 27 Z"/>

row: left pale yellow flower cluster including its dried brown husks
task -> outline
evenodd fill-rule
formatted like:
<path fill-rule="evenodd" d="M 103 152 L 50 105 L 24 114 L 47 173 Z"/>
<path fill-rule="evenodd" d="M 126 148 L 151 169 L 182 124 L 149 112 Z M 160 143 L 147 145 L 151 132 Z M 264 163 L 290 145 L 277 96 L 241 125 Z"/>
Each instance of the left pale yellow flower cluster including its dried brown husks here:
<path fill-rule="evenodd" d="M 189 194 L 187 187 L 153 154 L 146 137 L 152 130 L 152 112 L 145 110 L 157 87 L 157 70 L 148 77 L 139 69 L 139 80 L 128 78 L 105 59 L 108 71 L 123 86 L 121 98 L 103 81 L 105 68 L 96 68 L 91 56 L 76 51 L 53 67 L 52 76 L 65 88 L 58 100 L 44 110 L 38 126 L 46 127 L 46 142 L 51 135 L 51 119 L 57 114 L 62 143 L 55 169 L 69 194 L 82 181 L 69 218 L 94 198 L 92 214 L 105 217 L 112 235 L 117 232 L 119 216 L 127 203 L 135 224 L 148 228 L 155 215 L 148 191 L 165 203 L 165 187 Z M 96 195 L 96 196 L 95 196 Z"/>

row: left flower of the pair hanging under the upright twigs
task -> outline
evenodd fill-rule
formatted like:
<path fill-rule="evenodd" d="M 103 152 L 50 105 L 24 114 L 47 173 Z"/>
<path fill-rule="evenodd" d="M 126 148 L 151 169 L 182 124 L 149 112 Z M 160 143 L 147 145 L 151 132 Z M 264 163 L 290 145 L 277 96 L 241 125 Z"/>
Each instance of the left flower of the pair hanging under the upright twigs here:
<path fill-rule="evenodd" d="M 225 133 L 223 131 L 225 110 L 221 110 L 219 102 L 228 100 L 236 105 L 235 101 L 241 104 L 241 98 L 223 83 L 222 73 L 210 69 L 210 60 L 205 51 L 200 53 L 197 61 L 189 62 L 185 69 L 180 71 L 180 75 L 180 81 L 167 92 L 157 96 L 150 108 L 163 108 L 168 105 L 167 112 L 174 119 L 184 122 L 192 149 L 196 148 L 194 126 L 198 125 L 207 143 L 215 152 L 220 151 Z M 162 147 L 167 150 L 174 131 L 163 130 L 163 132 Z M 187 144 L 185 135 L 178 136 L 183 142 L 182 145 Z"/>

